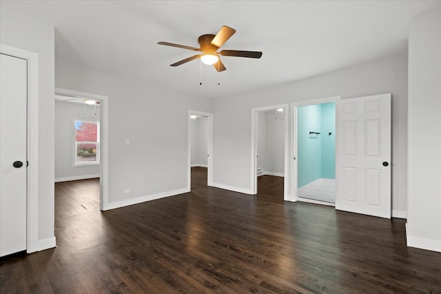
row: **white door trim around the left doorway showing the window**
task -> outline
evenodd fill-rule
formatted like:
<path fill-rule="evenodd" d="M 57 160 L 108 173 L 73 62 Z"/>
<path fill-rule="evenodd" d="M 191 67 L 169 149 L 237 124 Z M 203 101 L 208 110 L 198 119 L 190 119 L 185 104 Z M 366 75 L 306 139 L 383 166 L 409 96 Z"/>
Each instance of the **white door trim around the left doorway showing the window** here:
<path fill-rule="evenodd" d="M 100 171 L 99 171 L 99 183 L 100 183 L 100 209 L 105 211 L 108 207 L 109 202 L 109 187 L 108 187 L 108 177 L 109 177 L 109 99 L 107 96 L 90 94 L 79 91 L 72 91 L 67 89 L 55 88 L 55 96 L 69 96 L 69 97 L 81 97 L 89 98 L 92 100 L 100 101 L 101 105 L 101 116 L 100 116 Z"/>

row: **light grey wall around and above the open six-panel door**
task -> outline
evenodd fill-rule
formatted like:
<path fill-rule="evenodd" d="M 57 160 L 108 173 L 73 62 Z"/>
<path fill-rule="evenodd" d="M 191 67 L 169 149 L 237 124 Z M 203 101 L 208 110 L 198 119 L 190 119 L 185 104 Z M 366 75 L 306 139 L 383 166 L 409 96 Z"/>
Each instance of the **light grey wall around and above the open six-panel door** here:
<path fill-rule="evenodd" d="M 382 93 L 392 94 L 393 213 L 405 216 L 407 211 L 407 52 L 397 52 L 372 63 L 322 74 L 303 81 L 216 99 L 214 182 L 235 187 L 238 191 L 251 191 L 250 109 L 330 96 L 353 98 Z M 288 167 L 288 170 L 290 169 L 291 167 Z M 291 187 L 287 189 L 288 193 L 291 193 Z"/>

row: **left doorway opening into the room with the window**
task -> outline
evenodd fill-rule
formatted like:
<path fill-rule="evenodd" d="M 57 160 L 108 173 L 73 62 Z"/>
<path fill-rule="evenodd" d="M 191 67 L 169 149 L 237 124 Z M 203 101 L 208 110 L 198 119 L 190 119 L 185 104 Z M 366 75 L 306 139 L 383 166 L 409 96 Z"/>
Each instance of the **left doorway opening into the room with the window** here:
<path fill-rule="evenodd" d="M 54 109 L 55 214 L 99 210 L 101 102 L 56 95 Z"/>

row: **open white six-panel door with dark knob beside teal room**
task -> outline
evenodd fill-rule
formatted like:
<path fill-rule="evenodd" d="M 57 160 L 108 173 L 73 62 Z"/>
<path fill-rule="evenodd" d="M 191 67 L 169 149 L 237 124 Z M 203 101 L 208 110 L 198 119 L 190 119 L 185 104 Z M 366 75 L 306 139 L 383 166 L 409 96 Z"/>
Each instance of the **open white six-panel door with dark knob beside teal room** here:
<path fill-rule="evenodd" d="M 336 209 L 391 218 L 391 94 L 337 101 Z"/>

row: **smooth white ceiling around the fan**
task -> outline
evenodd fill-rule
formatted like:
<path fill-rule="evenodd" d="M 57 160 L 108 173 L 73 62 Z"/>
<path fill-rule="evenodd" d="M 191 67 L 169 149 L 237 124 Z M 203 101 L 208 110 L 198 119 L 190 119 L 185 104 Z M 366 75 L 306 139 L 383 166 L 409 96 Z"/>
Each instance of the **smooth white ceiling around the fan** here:
<path fill-rule="evenodd" d="M 366 63 L 407 48 L 409 20 L 441 1 L 1 1 L 53 23 L 56 59 L 152 81 L 205 97 L 296 81 Z M 237 30 L 221 49 L 262 51 L 261 59 L 223 56 L 218 73 L 194 51 L 201 34 Z"/>

